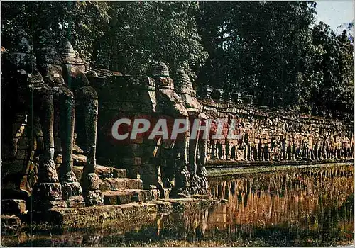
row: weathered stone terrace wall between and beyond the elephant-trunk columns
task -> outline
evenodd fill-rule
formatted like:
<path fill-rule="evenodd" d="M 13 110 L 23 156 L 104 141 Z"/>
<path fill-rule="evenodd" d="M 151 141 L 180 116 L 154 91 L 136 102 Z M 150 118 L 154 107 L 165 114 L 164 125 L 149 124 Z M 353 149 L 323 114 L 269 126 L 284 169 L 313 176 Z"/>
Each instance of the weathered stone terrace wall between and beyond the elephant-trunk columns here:
<path fill-rule="evenodd" d="M 184 109 L 180 106 L 182 98 L 173 95 L 176 89 L 169 88 L 172 81 L 169 83 L 170 79 L 167 79 L 162 83 L 152 77 L 114 74 L 89 77 L 89 80 L 100 99 L 98 163 L 127 169 L 129 177 L 143 179 L 144 188 L 158 186 L 161 196 L 168 197 L 176 169 L 172 144 L 164 140 L 148 140 L 147 135 L 138 135 L 135 140 L 117 141 L 111 135 L 111 127 L 119 118 L 147 118 L 152 125 L 162 117 L 182 118 L 178 114 L 179 109 Z M 170 95 L 162 94 L 162 89 L 171 91 Z M 215 159 L 243 162 L 353 157 L 352 123 L 242 104 L 240 101 L 232 103 L 230 98 L 222 99 L 219 91 L 212 95 L 214 100 L 208 93 L 199 99 L 202 112 L 209 119 L 222 118 L 229 124 L 231 119 L 235 119 L 236 130 L 243 134 L 238 140 L 207 140 L 206 159 L 212 162 Z M 228 124 L 225 125 L 224 133 L 228 133 L 229 128 Z M 213 130 L 210 137 L 212 135 Z M 199 156 L 204 155 L 197 154 Z"/>

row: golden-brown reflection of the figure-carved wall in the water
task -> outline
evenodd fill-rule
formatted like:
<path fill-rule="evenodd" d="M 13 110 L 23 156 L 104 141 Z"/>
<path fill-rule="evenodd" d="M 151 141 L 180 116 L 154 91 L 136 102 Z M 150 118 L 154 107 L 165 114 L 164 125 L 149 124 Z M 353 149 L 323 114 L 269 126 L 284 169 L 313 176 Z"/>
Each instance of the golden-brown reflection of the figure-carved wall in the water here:
<path fill-rule="evenodd" d="M 229 202 L 211 210 L 207 229 L 224 230 L 227 238 L 278 230 L 288 244 L 300 235 L 310 242 L 353 239 L 351 166 L 215 180 L 211 191 Z"/>

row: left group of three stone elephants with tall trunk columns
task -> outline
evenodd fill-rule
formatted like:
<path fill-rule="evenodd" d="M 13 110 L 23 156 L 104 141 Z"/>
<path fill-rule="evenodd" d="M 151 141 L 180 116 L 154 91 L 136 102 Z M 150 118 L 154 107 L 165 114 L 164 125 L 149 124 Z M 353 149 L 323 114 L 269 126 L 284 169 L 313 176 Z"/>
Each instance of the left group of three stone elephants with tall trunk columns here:
<path fill-rule="evenodd" d="M 43 133 L 38 181 L 33 188 L 35 208 L 102 204 L 99 178 L 94 173 L 98 98 L 85 76 L 84 62 L 72 45 L 63 40 L 56 49 L 43 30 L 33 50 L 28 35 L 19 30 L 13 47 L 1 49 L 1 81 L 3 96 L 11 106 L 9 115 L 28 114 L 28 120 L 39 119 Z M 12 97 L 16 92 L 16 97 Z M 72 171 L 75 109 L 83 106 L 87 164 L 81 182 Z M 9 121 L 12 119 L 9 118 Z M 53 157 L 54 127 L 59 123 L 62 164 L 59 175 Z M 8 123 L 5 123 L 6 125 Z M 12 123 L 10 123 L 11 126 Z M 31 130 L 31 121 L 27 123 Z"/>

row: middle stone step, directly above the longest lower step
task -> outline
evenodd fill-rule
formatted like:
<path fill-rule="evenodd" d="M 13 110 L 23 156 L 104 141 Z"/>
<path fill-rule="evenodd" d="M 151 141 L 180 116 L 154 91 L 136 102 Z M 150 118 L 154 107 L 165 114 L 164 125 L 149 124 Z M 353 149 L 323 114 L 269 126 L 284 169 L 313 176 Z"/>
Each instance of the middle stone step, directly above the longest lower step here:
<path fill-rule="evenodd" d="M 126 189 L 143 189 L 141 179 L 99 179 L 99 188 L 104 191 L 124 191 Z"/>

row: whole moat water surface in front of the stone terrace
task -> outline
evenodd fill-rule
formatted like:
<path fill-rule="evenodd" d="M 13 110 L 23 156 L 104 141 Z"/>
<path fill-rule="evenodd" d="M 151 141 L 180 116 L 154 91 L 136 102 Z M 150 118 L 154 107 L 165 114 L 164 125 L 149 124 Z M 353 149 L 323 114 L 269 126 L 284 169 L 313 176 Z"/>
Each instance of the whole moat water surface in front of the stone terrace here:
<path fill-rule="evenodd" d="M 210 180 L 225 198 L 208 210 L 155 215 L 99 230 L 23 229 L 6 246 L 335 246 L 354 240 L 353 167 L 334 166 Z"/>

